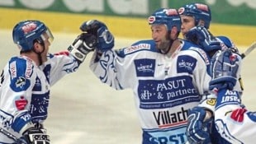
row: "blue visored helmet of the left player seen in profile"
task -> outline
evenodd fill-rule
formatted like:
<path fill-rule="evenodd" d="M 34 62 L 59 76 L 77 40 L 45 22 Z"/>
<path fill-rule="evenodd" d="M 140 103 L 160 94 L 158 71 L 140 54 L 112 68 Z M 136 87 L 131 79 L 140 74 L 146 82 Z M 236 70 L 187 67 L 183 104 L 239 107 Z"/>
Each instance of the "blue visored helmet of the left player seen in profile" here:
<path fill-rule="evenodd" d="M 21 51 L 33 49 L 35 40 L 43 43 L 45 39 L 50 42 L 54 39 L 50 30 L 41 21 L 21 21 L 12 30 L 14 44 L 19 45 Z"/>

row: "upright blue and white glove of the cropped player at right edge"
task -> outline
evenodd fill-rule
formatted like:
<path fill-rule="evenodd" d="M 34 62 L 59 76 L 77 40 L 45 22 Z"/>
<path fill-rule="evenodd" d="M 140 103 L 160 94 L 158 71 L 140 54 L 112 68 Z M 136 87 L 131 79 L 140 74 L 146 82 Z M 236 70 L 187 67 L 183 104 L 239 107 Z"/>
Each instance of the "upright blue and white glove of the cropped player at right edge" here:
<path fill-rule="evenodd" d="M 232 49 L 218 51 L 211 58 L 211 81 L 210 90 L 228 89 L 233 90 L 239 77 L 239 66 L 241 63 L 239 54 Z"/>

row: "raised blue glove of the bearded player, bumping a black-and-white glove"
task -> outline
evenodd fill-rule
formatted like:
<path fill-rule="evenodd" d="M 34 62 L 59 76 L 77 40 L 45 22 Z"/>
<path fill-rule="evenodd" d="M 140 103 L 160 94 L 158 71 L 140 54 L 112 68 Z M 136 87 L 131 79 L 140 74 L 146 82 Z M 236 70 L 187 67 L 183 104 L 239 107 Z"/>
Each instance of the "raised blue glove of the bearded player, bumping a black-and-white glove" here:
<path fill-rule="evenodd" d="M 96 49 L 98 51 L 105 52 L 114 47 L 114 36 L 103 22 L 97 20 L 85 21 L 82 26 L 80 26 L 80 30 L 96 36 Z"/>

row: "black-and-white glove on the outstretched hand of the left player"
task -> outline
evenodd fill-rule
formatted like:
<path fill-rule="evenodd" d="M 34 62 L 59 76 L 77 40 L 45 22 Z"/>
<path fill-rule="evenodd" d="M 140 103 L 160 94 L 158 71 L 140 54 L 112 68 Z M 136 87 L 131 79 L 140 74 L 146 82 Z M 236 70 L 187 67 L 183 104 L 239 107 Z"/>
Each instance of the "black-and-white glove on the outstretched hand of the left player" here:
<path fill-rule="evenodd" d="M 82 63 L 87 54 L 95 49 L 96 44 L 96 36 L 88 33 L 82 33 L 73 41 L 73 44 L 69 46 L 68 50 L 74 58 L 78 59 L 78 61 Z"/>

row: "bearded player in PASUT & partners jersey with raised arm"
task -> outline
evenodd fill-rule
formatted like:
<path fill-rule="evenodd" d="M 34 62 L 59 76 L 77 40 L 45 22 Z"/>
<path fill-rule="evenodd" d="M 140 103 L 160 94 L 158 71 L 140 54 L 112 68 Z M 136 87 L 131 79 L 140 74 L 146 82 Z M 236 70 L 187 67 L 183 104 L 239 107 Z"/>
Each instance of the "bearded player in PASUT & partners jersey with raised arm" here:
<path fill-rule="evenodd" d="M 200 95 L 208 91 L 210 59 L 197 45 L 178 39 L 177 10 L 157 10 L 149 16 L 149 26 L 152 39 L 113 49 L 107 26 L 85 21 L 81 30 L 97 36 L 90 68 L 108 86 L 133 90 L 143 144 L 185 143 L 188 109 L 199 105 Z"/>

